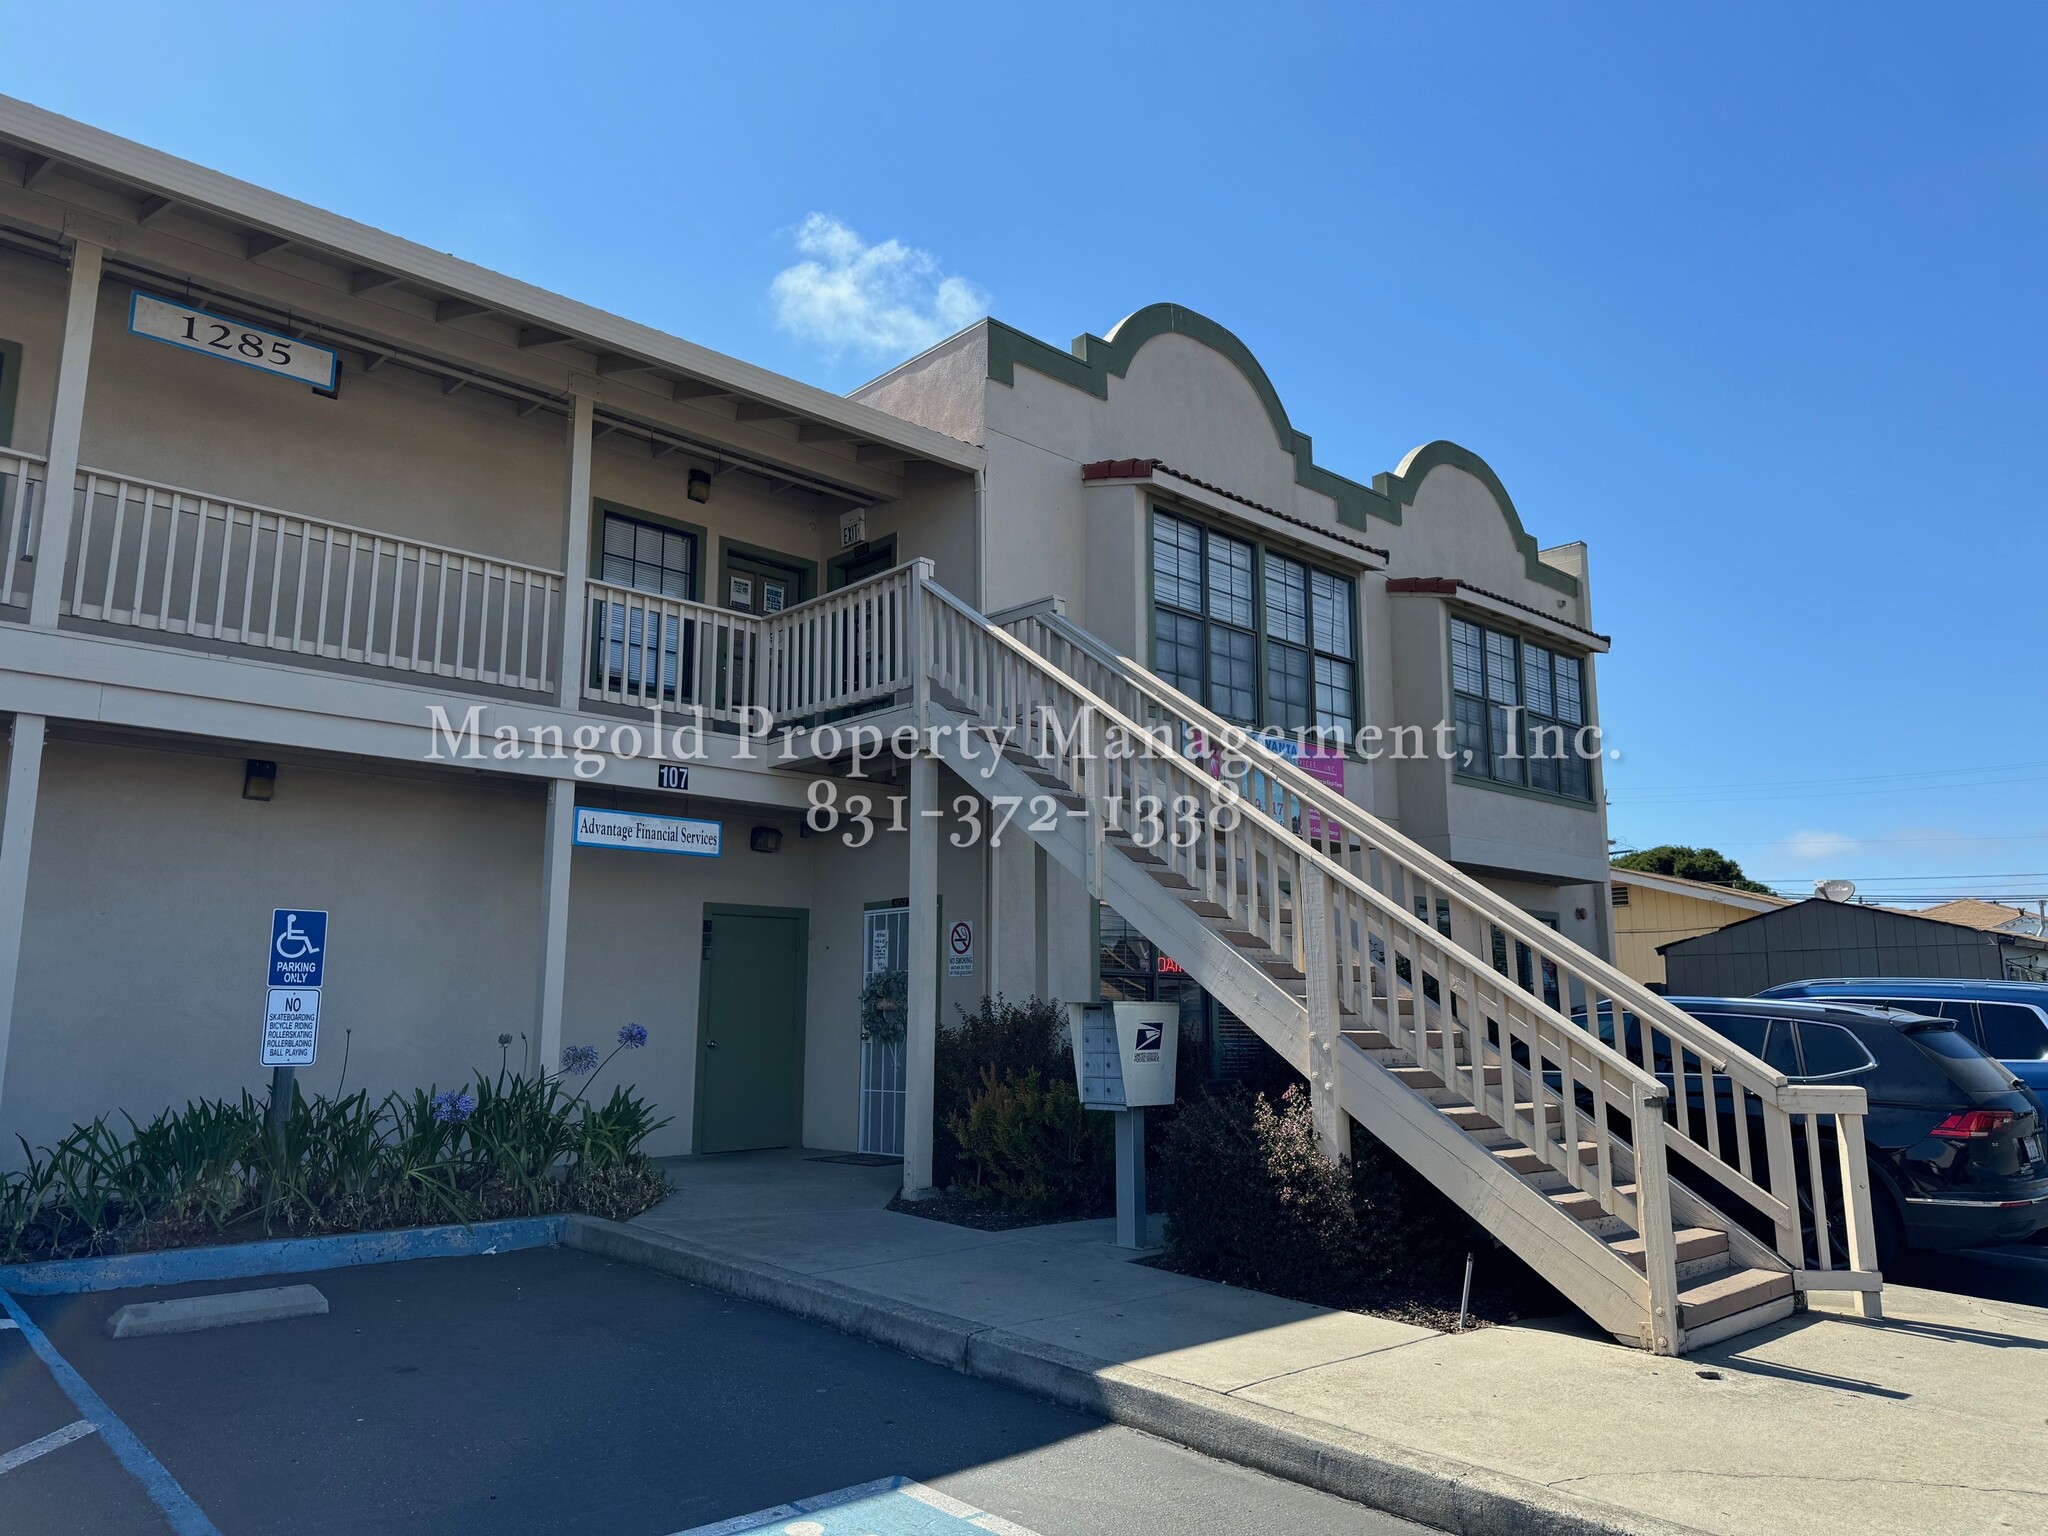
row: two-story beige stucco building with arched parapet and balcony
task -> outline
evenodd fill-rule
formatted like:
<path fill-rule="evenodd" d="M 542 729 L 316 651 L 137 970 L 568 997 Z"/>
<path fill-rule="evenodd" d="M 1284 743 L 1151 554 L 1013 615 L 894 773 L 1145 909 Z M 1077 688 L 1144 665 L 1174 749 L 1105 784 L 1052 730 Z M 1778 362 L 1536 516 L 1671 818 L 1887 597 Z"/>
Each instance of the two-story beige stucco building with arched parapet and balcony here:
<path fill-rule="evenodd" d="M 258 1090 L 276 907 L 330 924 L 307 1092 L 631 1020 L 653 1151 L 903 1151 L 913 1186 L 954 1006 L 1116 973 L 1225 1028 L 1171 932 L 967 836 L 958 762 L 823 743 L 965 709 L 944 623 L 1055 600 L 1610 948 L 1597 752 L 1524 750 L 1597 721 L 1585 547 L 1448 442 L 1317 465 L 1174 305 L 1073 352 L 989 319 L 838 397 L 0 100 L 0 551 L 6 1145 Z M 819 784 L 877 831 L 807 823 Z M 877 967 L 903 1044 L 860 1036 Z"/>

